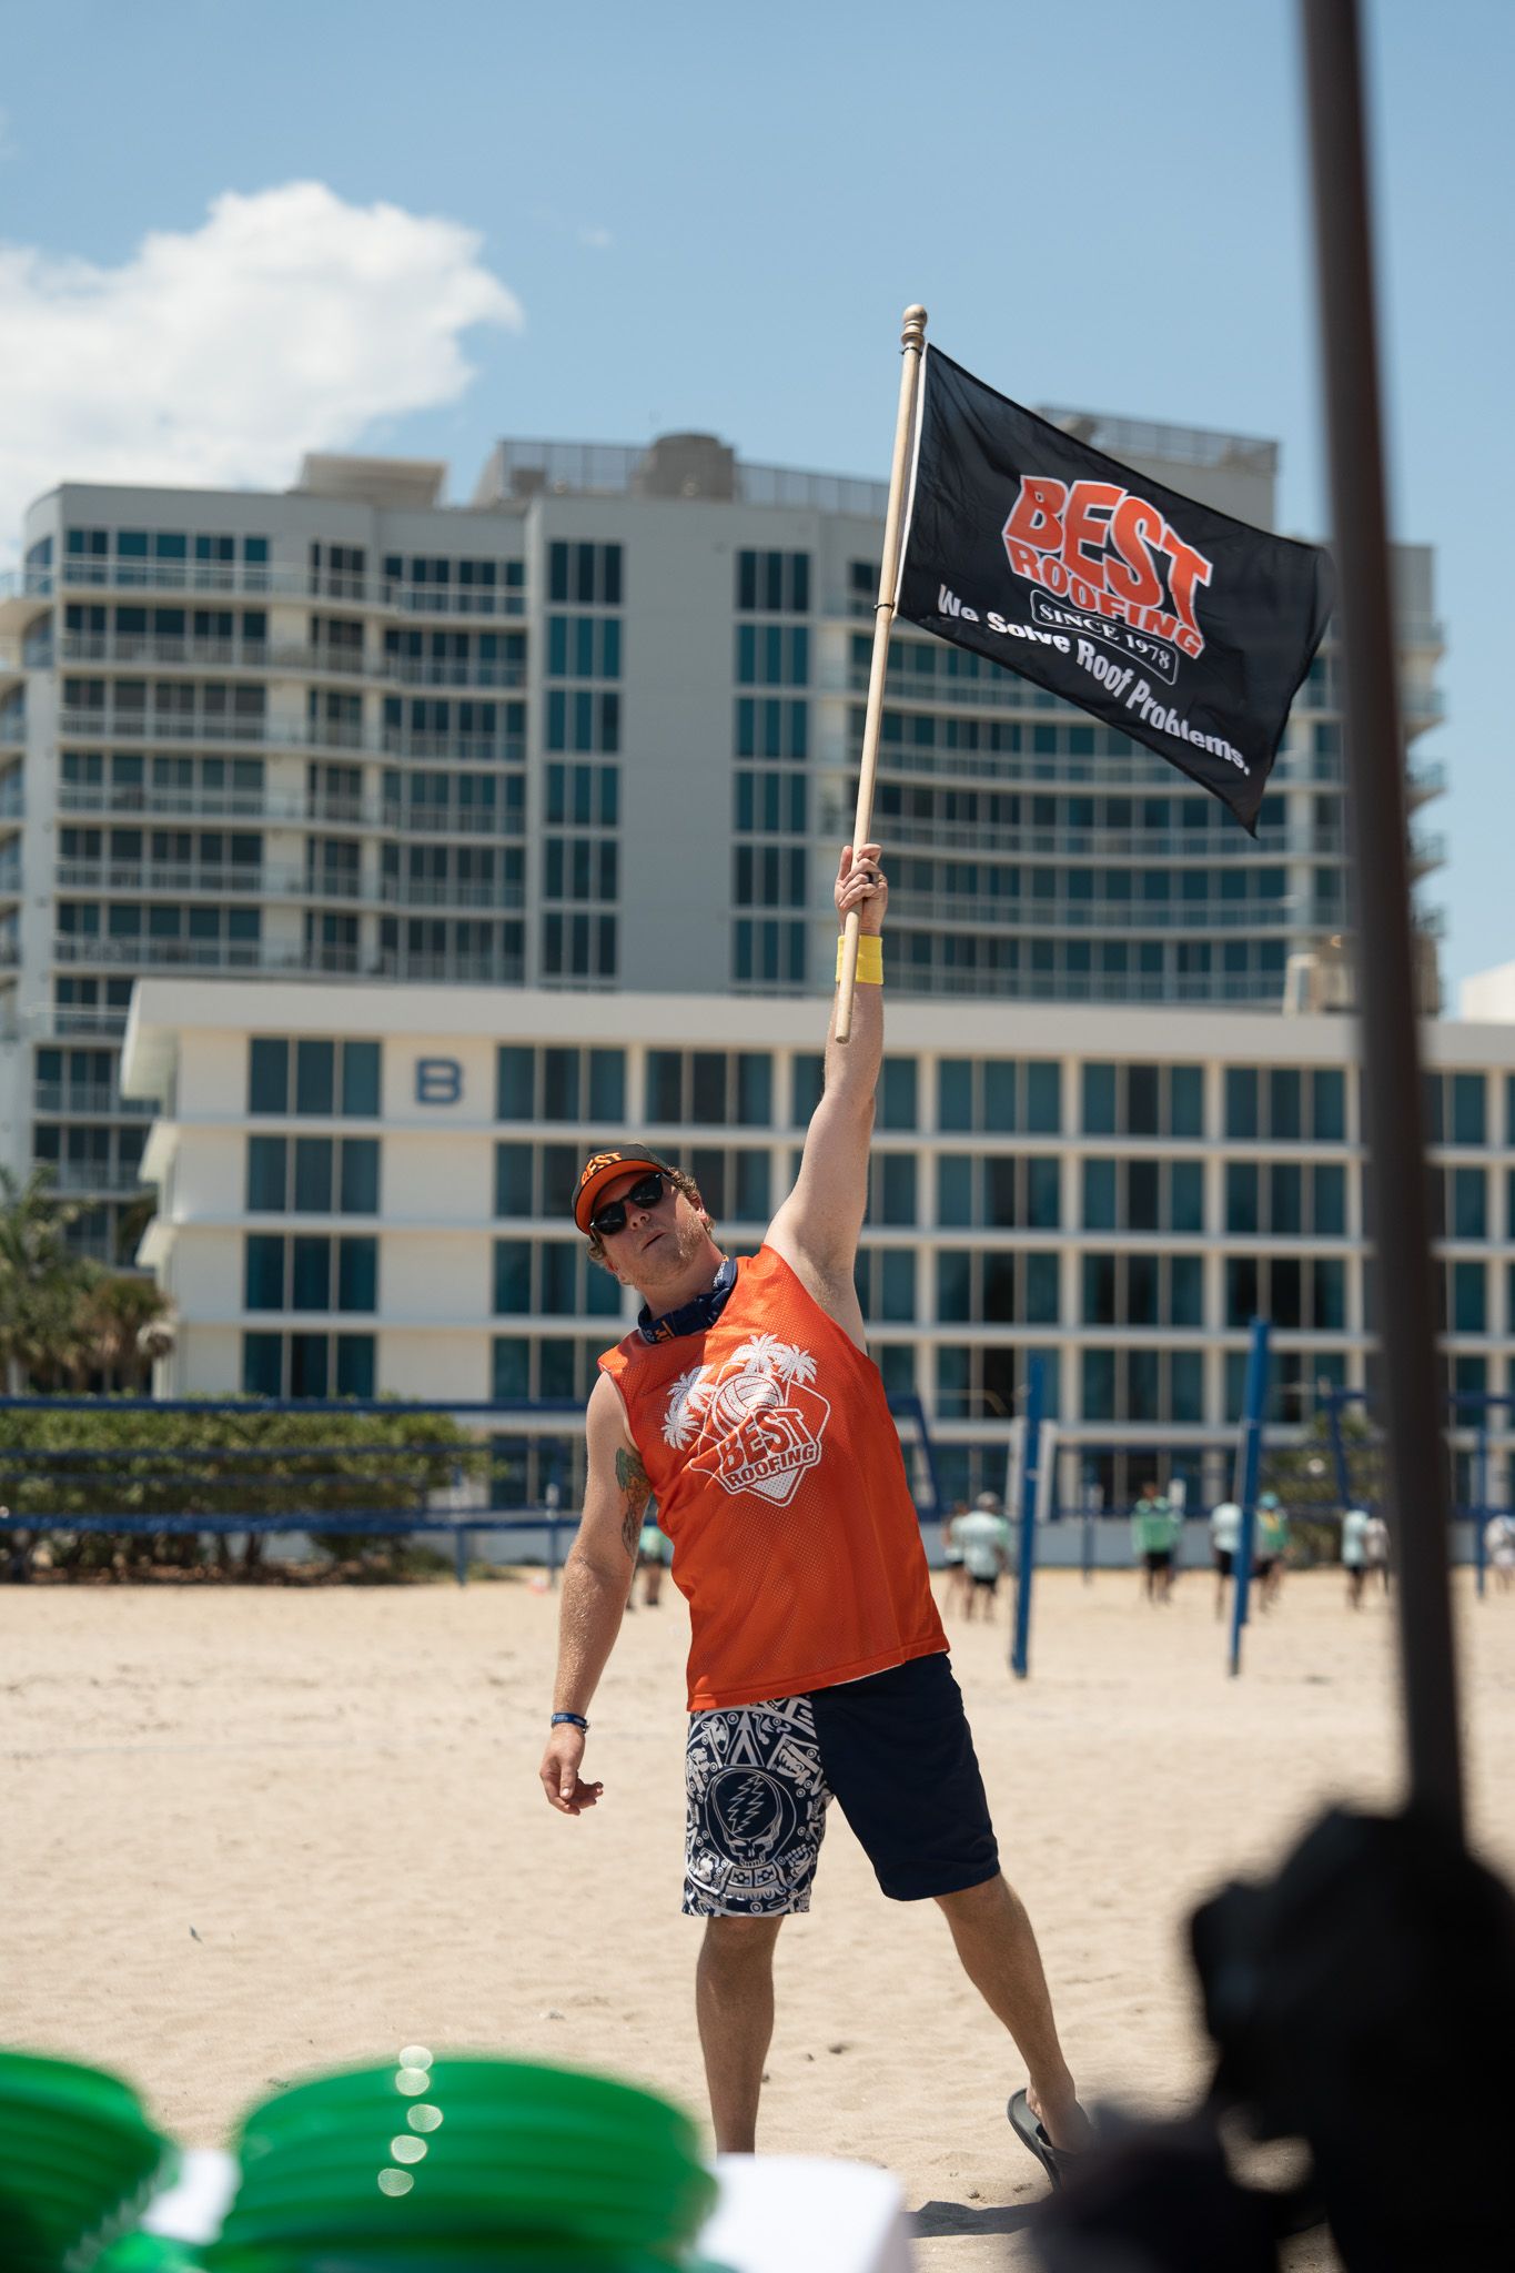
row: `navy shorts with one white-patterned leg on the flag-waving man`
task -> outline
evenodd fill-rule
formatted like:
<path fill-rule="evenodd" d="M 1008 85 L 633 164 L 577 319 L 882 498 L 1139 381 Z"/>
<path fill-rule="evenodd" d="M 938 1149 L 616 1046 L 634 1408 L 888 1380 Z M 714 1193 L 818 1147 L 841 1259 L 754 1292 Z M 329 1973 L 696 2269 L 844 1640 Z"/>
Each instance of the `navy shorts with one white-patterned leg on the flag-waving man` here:
<path fill-rule="evenodd" d="M 956 1893 L 999 1871 L 945 1655 L 690 1714 L 684 1782 L 684 1912 L 695 1918 L 809 1909 L 834 1798 L 893 1900 Z"/>

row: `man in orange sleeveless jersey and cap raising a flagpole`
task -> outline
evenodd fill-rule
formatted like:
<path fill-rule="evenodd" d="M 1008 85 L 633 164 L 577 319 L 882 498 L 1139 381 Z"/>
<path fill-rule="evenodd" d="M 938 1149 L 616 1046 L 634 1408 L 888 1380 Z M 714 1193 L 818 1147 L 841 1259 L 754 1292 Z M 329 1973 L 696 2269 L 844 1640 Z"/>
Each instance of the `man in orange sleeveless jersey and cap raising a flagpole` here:
<path fill-rule="evenodd" d="M 1031 1921 L 999 1873 L 852 1277 L 884 1057 L 879 846 L 843 850 L 834 898 L 843 927 L 856 918 L 852 1032 L 838 1039 L 834 1007 L 800 1177 L 761 1250 L 729 1262 L 690 1180 L 636 1146 L 579 1177 L 588 1252 L 643 1312 L 588 1402 L 541 1780 L 563 1816 L 600 1802 L 581 1775 L 588 1709 L 656 1496 L 690 1605 L 684 1909 L 704 1918 L 695 2000 L 718 2150 L 756 2146 L 772 1953 L 809 1909 L 836 1798 L 884 1893 L 943 1909 L 1029 2071 L 1011 2121 L 1056 2182 L 1088 2123 Z"/>

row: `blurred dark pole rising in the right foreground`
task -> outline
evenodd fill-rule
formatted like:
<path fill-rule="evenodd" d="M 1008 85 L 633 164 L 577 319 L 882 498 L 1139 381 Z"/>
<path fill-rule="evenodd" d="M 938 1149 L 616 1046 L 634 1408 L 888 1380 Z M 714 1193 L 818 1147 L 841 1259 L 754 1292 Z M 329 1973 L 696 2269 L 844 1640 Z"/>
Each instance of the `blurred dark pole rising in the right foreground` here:
<path fill-rule="evenodd" d="M 1356 0 L 1299 0 L 1315 177 L 1315 284 L 1331 441 L 1331 525 L 1347 673 L 1347 802 L 1358 896 L 1363 1109 L 1383 1305 L 1388 1484 L 1411 1800 L 1463 1834 L 1449 1496 L 1438 1393 L 1420 1034 L 1411 950 L 1404 741 L 1374 330 Z"/>

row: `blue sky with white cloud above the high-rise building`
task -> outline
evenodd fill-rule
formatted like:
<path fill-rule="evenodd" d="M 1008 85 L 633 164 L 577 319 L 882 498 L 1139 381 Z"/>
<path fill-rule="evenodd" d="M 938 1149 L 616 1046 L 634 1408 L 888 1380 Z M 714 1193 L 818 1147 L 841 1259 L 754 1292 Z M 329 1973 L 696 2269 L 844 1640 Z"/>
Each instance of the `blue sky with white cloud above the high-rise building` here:
<path fill-rule="evenodd" d="M 1515 7 L 1365 20 L 1456 980 L 1515 957 Z M 7 536 L 66 475 L 282 486 L 320 443 L 445 457 L 454 496 L 497 434 L 881 475 L 909 300 L 1024 402 L 1277 436 L 1281 527 L 1324 527 L 1290 0 L 0 0 L 0 32 Z"/>

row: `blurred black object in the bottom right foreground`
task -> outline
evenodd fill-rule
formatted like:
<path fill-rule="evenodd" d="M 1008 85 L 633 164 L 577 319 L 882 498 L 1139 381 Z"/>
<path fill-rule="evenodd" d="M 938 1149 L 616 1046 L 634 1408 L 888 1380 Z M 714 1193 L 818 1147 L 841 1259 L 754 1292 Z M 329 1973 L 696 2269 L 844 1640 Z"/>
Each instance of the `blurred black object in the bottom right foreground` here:
<path fill-rule="evenodd" d="M 1510 2264 L 1515 1900 L 1415 1812 L 1326 1814 L 1192 1918 L 1206 2105 L 1095 2148 L 1038 2221 L 1047 2273 L 1265 2273 L 1299 2203 L 1229 2175 L 1220 2116 L 1304 2139 L 1351 2273 Z"/>

